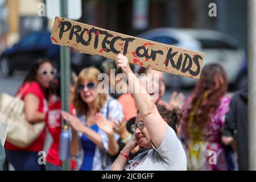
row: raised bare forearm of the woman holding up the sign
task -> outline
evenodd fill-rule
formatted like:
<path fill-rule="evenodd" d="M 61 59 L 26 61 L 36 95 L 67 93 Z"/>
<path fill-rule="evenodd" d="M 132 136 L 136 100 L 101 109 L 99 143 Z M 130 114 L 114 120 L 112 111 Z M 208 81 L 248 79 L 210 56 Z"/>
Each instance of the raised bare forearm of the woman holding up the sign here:
<path fill-rule="evenodd" d="M 156 108 L 150 94 L 147 93 L 133 72 L 127 75 L 127 80 L 129 82 L 129 88 L 133 89 L 133 97 L 139 113 L 142 117 L 152 114 Z"/>

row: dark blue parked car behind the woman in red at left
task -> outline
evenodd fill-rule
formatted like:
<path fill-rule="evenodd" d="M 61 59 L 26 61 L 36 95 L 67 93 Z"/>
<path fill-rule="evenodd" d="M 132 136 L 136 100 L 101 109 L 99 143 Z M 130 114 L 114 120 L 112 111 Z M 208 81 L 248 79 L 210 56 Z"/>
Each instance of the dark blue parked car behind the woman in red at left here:
<path fill-rule="evenodd" d="M 15 70 L 27 71 L 39 57 L 53 60 L 57 69 L 60 68 L 60 46 L 52 44 L 51 33 L 48 31 L 32 32 L 24 36 L 14 46 L 5 49 L 0 56 L 0 74 L 10 76 Z M 100 68 L 103 57 L 80 53 L 71 48 L 71 68 L 79 73 L 82 68 L 94 65 Z"/>

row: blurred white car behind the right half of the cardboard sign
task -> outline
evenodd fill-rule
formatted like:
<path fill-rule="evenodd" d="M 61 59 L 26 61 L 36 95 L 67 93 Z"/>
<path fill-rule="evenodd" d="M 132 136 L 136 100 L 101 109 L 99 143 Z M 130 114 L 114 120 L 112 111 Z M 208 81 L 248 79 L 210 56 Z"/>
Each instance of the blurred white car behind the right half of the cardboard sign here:
<path fill-rule="evenodd" d="M 170 44 L 181 48 L 205 53 L 203 65 L 219 63 L 225 69 L 229 84 L 236 82 L 236 75 L 243 60 L 245 51 L 237 40 L 213 30 L 196 30 L 185 28 L 155 28 L 140 35 L 141 38 Z M 193 86 L 196 79 L 174 76 L 164 73 L 167 86 L 176 88 Z"/>

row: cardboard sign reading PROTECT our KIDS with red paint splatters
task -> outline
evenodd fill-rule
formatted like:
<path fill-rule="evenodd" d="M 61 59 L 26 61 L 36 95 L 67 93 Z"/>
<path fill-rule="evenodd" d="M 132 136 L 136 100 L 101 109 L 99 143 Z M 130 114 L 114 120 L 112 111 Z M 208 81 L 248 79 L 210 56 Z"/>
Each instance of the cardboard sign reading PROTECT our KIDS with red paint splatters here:
<path fill-rule="evenodd" d="M 199 78 L 204 60 L 204 53 L 201 52 L 119 34 L 61 17 L 55 18 L 51 41 L 113 60 L 118 53 L 122 53 L 132 64 L 191 78 Z"/>

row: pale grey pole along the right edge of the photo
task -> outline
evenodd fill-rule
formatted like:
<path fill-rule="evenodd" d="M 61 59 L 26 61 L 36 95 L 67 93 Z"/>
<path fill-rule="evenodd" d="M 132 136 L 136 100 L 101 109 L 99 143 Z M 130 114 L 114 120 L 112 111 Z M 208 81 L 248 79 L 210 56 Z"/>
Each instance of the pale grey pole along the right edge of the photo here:
<path fill-rule="evenodd" d="M 247 2 L 249 53 L 249 170 L 256 170 L 256 0 Z"/>

